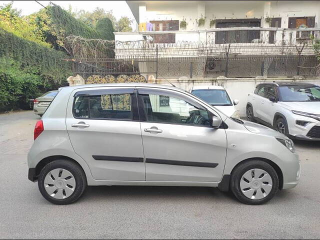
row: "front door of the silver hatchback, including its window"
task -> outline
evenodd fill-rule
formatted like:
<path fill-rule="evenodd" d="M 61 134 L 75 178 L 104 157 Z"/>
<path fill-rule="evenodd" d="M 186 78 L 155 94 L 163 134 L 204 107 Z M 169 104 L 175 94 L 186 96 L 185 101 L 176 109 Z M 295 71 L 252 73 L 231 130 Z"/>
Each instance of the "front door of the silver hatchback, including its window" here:
<path fill-rule="evenodd" d="M 213 110 L 175 91 L 138 93 L 146 180 L 219 181 L 226 133 L 210 126 Z"/>

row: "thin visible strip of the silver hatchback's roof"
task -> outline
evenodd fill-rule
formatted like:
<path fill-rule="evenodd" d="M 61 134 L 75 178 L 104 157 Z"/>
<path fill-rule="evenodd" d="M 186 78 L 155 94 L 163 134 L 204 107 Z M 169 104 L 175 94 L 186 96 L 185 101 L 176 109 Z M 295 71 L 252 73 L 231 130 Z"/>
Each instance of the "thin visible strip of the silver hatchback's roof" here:
<path fill-rule="evenodd" d="M 87 88 L 87 87 L 156 87 L 156 88 L 162 88 L 162 89 L 171 89 L 176 90 L 180 92 L 187 92 L 184 89 L 181 89 L 179 87 L 174 86 L 168 86 L 158 83 L 141 83 L 141 82 L 128 82 L 128 83 L 103 83 L 103 84 L 84 84 L 84 85 L 77 85 L 77 86 L 62 86 L 59 88 L 61 89 L 68 89 L 69 91 L 75 90 L 75 89 L 81 89 L 81 88 Z"/>

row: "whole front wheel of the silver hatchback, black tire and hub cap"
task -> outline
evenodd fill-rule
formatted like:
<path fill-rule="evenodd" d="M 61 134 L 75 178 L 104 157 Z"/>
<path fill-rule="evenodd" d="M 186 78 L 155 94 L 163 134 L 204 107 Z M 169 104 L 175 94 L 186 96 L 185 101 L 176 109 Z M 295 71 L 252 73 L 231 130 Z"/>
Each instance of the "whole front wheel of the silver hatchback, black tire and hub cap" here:
<path fill-rule="evenodd" d="M 258 205 L 269 201 L 278 187 L 279 178 L 276 171 L 262 160 L 240 163 L 231 173 L 230 189 L 234 196 L 245 204 Z"/>

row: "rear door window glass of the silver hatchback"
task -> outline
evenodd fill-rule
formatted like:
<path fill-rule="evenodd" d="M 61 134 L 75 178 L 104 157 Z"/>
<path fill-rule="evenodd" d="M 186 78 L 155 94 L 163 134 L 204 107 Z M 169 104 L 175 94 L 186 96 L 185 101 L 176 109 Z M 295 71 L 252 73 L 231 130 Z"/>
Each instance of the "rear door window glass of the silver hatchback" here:
<path fill-rule="evenodd" d="M 129 93 L 77 96 L 73 114 L 80 118 L 132 119 Z"/>

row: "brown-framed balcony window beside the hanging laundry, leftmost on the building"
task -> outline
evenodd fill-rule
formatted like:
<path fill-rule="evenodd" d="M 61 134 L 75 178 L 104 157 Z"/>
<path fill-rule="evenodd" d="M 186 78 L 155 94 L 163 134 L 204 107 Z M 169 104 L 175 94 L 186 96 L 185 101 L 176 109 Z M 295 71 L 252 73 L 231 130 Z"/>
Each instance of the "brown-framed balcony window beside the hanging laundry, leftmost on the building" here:
<path fill-rule="evenodd" d="M 153 31 L 178 31 L 179 21 L 150 21 L 153 25 Z M 175 43 L 175 33 L 163 33 L 152 35 L 154 43 Z"/>

